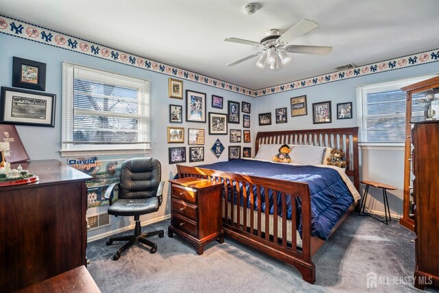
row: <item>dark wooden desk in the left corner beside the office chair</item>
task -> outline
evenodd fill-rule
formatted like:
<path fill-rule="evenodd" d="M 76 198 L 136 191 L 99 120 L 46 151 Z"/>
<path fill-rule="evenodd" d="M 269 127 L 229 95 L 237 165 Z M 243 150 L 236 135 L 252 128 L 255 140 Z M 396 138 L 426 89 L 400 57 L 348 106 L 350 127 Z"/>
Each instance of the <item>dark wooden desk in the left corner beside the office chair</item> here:
<path fill-rule="evenodd" d="M 86 266 L 85 181 L 91 177 L 56 160 L 21 165 L 40 180 L 0 187 L 1 292 Z"/>

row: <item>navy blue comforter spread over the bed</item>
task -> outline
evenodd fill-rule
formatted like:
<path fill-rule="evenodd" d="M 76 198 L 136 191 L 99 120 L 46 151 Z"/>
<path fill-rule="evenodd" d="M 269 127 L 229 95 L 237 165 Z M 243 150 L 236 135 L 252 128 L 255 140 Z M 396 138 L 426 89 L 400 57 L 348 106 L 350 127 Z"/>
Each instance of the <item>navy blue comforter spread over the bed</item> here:
<path fill-rule="evenodd" d="M 335 223 L 337 223 L 342 215 L 346 213 L 354 200 L 351 191 L 349 191 L 340 174 L 331 168 L 316 167 L 312 165 L 286 165 L 245 159 L 219 162 L 209 165 L 199 165 L 197 167 L 215 169 L 223 172 L 248 174 L 265 178 L 308 183 L 309 192 L 311 194 L 311 235 L 325 240 L 328 239 L 331 229 Z M 240 187 L 240 189 L 241 188 L 242 187 Z M 272 204 L 272 191 L 270 191 L 269 194 L 269 208 L 270 213 L 272 214 L 274 209 Z M 283 216 L 280 194 L 277 195 L 277 198 L 279 203 L 278 215 Z M 230 194 L 228 196 L 228 200 L 230 201 Z M 289 196 L 287 200 L 289 200 Z M 236 194 L 234 201 L 236 204 Z M 241 197 L 240 202 L 241 206 L 243 206 L 244 198 Z M 254 207 L 257 207 L 256 200 L 254 202 Z M 289 202 L 287 202 L 287 207 L 287 219 L 291 220 L 292 213 Z M 298 224 L 297 228 L 301 236 L 302 222 L 300 217 L 300 207 L 300 200 L 296 198 L 296 222 Z M 250 201 L 248 201 L 248 208 L 250 208 Z M 265 202 L 262 202 L 261 208 L 262 211 L 265 212 Z"/>

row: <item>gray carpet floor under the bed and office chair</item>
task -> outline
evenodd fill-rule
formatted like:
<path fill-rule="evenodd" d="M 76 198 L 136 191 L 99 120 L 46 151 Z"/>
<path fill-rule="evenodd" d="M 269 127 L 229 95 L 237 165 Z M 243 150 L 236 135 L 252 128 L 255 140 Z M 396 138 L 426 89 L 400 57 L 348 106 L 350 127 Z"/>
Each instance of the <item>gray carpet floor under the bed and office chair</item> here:
<path fill-rule="evenodd" d="M 305 282 L 292 266 L 263 255 L 232 239 L 211 242 L 203 255 L 177 235 L 167 236 L 165 220 L 143 227 L 163 228 L 165 237 L 150 254 L 141 244 L 118 261 L 112 255 L 123 246 L 107 239 L 88 243 L 88 270 L 102 292 L 421 292 L 413 286 L 414 233 L 394 220 L 385 225 L 351 214 L 313 257 L 316 283 Z M 123 233 L 128 235 L 132 233 Z M 375 272 L 377 288 L 366 287 Z M 429 292 L 439 292 L 427 287 Z"/>

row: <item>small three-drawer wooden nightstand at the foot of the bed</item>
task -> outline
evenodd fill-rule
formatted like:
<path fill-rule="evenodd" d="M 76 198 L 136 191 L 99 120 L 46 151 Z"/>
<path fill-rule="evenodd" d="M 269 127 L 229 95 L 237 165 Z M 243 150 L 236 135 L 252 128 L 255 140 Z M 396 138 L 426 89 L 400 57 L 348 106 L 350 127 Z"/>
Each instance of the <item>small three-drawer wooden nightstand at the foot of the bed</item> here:
<path fill-rule="evenodd" d="M 221 222 L 221 183 L 187 177 L 169 180 L 171 183 L 171 225 L 174 233 L 195 246 L 198 255 L 204 246 L 217 239 L 224 242 Z"/>

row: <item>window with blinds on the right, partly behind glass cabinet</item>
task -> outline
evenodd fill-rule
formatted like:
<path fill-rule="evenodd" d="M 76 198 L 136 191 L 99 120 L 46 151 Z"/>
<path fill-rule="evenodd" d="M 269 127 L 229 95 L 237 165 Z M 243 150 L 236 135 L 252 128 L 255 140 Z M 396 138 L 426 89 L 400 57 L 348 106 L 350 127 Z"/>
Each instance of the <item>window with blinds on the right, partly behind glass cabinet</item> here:
<path fill-rule="evenodd" d="M 403 145 L 405 141 L 405 93 L 401 88 L 432 76 L 410 78 L 360 86 L 357 88 L 360 143 Z M 424 106 L 418 102 L 423 95 L 413 95 L 412 121 L 424 115 Z"/>

